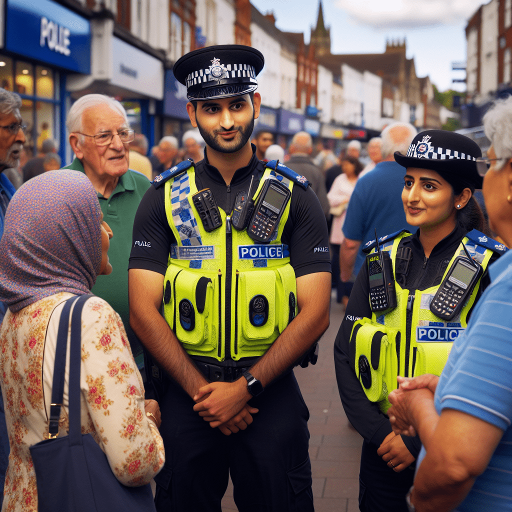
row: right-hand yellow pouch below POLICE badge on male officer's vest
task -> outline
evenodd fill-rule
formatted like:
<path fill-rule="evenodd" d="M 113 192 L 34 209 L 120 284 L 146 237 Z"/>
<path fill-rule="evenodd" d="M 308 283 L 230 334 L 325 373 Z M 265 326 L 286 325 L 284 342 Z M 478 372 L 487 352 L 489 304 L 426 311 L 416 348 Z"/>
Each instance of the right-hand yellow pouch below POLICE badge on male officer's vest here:
<path fill-rule="evenodd" d="M 237 330 L 238 348 L 245 352 L 244 356 L 250 351 L 267 350 L 277 337 L 273 336 L 275 287 L 276 275 L 273 270 L 240 272 Z"/>

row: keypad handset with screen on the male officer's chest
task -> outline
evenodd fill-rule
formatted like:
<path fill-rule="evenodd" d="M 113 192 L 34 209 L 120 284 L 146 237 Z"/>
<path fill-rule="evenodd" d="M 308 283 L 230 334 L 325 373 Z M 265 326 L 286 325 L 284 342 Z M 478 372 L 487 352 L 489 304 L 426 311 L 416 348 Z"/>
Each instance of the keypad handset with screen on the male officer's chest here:
<path fill-rule="evenodd" d="M 252 240 L 260 243 L 272 240 L 290 197 L 289 188 L 279 180 L 265 181 L 247 226 L 247 234 Z"/>

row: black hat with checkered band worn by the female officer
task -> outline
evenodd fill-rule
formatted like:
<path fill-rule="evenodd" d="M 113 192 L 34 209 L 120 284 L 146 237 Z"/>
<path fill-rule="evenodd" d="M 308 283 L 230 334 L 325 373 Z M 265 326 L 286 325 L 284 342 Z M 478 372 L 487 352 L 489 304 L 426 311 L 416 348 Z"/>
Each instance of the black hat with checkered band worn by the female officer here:
<path fill-rule="evenodd" d="M 407 155 L 398 151 L 395 160 L 403 167 L 431 169 L 452 186 L 462 184 L 482 188 L 476 159 L 482 156 L 478 144 L 470 138 L 445 130 L 426 130 L 414 137 Z"/>

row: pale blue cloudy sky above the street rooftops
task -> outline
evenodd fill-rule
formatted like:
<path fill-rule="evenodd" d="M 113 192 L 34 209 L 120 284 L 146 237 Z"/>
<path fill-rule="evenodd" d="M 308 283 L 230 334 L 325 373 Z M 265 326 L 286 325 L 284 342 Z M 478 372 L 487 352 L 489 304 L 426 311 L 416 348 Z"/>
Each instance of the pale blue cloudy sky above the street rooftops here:
<path fill-rule="evenodd" d="M 318 0 L 251 0 L 263 14 L 274 11 L 281 30 L 304 32 L 309 42 L 316 25 Z M 465 90 L 452 84 L 464 72 L 452 61 L 465 61 L 467 20 L 482 0 L 324 0 L 324 20 L 331 27 L 332 53 L 380 53 L 386 39 L 407 38 L 418 76 L 430 75 L 440 91 Z"/>

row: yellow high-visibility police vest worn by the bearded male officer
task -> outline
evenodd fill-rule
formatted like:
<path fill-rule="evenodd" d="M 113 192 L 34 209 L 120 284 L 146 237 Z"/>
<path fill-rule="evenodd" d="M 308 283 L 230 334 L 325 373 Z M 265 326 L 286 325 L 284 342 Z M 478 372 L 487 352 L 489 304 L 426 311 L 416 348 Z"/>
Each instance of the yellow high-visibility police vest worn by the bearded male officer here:
<path fill-rule="evenodd" d="M 261 356 L 297 313 L 295 272 L 281 241 L 291 200 L 268 244 L 233 228 L 222 208 L 222 226 L 207 232 L 191 199 L 198 190 L 188 165 L 165 182 L 165 213 L 176 238 L 164 279 L 165 319 L 189 355 Z M 279 169 L 266 167 L 253 199 L 268 179 L 293 189 Z"/>

